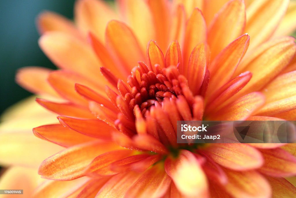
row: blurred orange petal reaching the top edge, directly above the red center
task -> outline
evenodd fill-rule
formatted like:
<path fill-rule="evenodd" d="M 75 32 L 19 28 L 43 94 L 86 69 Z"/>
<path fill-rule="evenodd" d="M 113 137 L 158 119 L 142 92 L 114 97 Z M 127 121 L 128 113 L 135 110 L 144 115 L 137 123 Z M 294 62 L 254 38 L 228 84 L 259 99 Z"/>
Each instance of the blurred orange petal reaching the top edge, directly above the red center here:
<path fill-rule="evenodd" d="M 168 7 L 170 6 L 170 1 L 149 0 L 148 6 L 150 8 L 150 12 L 152 14 L 153 23 L 155 27 L 155 40 L 160 46 L 160 49 L 164 51 L 168 47 L 168 35 L 170 29 L 170 10 L 168 9 Z M 143 18 L 141 18 L 141 20 L 143 20 Z"/>

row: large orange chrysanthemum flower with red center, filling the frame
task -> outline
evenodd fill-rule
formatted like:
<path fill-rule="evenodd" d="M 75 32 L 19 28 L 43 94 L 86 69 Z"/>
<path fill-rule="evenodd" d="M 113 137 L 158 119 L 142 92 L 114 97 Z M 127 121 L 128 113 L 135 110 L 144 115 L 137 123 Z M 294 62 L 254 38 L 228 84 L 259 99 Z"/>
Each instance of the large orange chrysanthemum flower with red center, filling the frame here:
<path fill-rule="evenodd" d="M 286 0 L 121 0 L 119 13 L 80 0 L 75 24 L 41 14 L 59 70 L 17 82 L 59 100 L 36 99 L 59 123 L 33 133 L 65 149 L 41 163 L 35 196 L 294 197 L 295 144 L 176 140 L 178 120 L 295 120 L 293 3 L 287 17 Z"/>

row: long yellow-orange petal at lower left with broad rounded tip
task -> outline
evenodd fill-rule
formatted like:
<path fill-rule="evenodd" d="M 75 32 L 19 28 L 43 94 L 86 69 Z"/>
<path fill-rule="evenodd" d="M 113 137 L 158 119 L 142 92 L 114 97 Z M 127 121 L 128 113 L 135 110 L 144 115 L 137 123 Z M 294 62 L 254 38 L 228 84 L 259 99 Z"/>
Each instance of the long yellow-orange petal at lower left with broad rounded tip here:
<path fill-rule="evenodd" d="M 80 178 L 84 176 L 85 168 L 96 156 L 118 148 L 114 143 L 102 141 L 75 145 L 45 159 L 38 173 L 43 178 L 54 180 Z"/>

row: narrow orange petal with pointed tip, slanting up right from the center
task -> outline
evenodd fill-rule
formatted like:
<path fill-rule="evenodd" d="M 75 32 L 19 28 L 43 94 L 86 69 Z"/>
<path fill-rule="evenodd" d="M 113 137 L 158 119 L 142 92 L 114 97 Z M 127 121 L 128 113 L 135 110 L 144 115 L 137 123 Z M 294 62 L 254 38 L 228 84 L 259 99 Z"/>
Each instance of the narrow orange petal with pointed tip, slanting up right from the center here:
<path fill-rule="evenodd" d="M 207 89 L 208 94 L 212 94 L 231 79 L 248 49 L 249 42 L 250 37 L 244 34 L 231 42 L 216 56 L 209 66 L 211 77 Z"/>

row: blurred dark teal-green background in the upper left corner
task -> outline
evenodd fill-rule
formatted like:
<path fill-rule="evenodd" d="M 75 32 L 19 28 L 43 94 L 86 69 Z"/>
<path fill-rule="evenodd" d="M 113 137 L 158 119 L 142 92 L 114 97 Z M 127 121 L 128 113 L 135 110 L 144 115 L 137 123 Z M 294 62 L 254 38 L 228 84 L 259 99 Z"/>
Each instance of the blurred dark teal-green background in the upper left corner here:
<path fill-rule="evenodd" d="M 31 95 L 15 83 L 15 73 L 24 66 L 55 68 L 38 47 L 37 15 L 50 10 L 73 18 L 75 0 L 0 1 L 0 113 Z"/>

